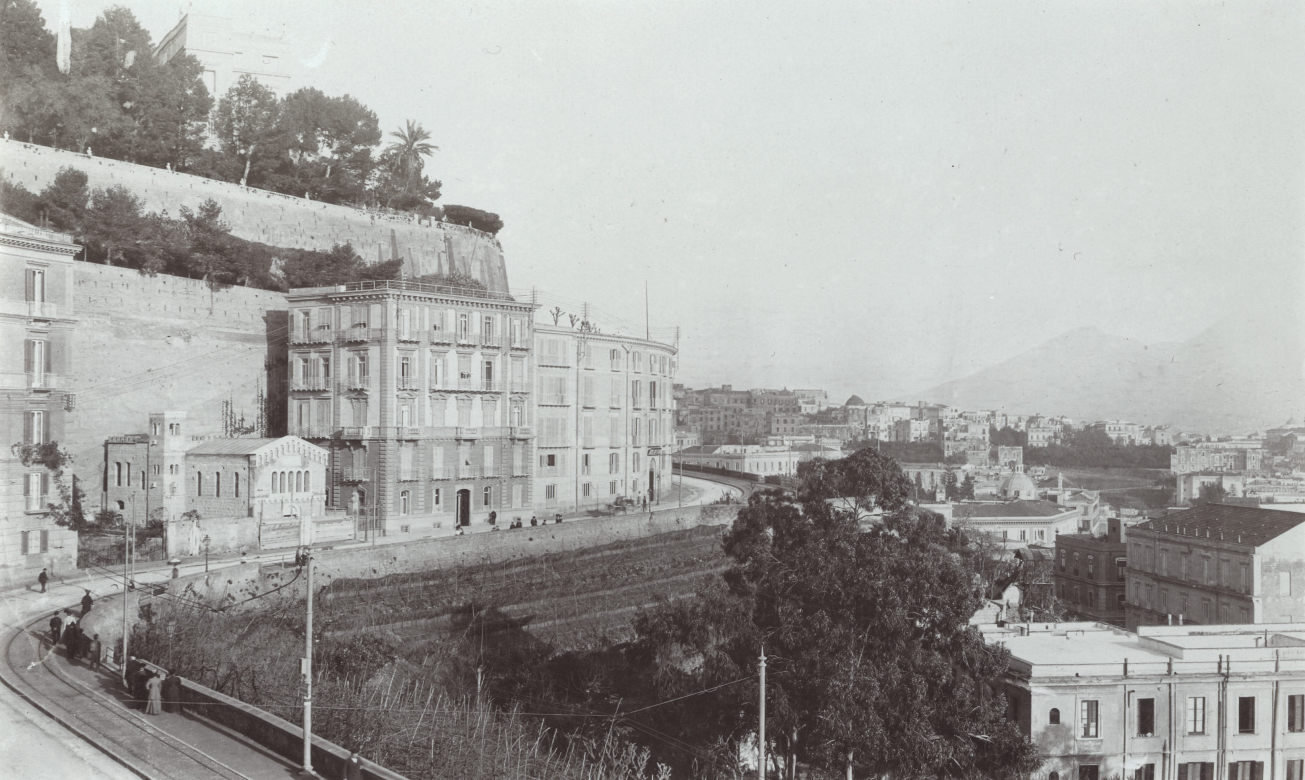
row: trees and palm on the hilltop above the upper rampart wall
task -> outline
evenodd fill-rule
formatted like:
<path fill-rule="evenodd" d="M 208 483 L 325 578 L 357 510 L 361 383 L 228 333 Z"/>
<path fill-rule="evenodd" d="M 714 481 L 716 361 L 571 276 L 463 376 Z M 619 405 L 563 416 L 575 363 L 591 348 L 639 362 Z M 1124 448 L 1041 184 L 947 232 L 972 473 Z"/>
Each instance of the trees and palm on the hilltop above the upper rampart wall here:
<path fill-rule="evenodd" d="M 351 95 L 303 87 L 283 98 L 252 76 L 210 95 L 192 55 L 154 59 L 130 10 L 72 31 L 68 73 L 31 0 L 0 5 L 0 130 L 27 143 L 171 168 L 328 203 L 444 218 L 425 162 L 438 146 L 408 120 L 385 138 Z M 213 137 L 209 137 L 211 127 Z M 450 222 L 497 233 L 497 214 L 450 207 Z"/>

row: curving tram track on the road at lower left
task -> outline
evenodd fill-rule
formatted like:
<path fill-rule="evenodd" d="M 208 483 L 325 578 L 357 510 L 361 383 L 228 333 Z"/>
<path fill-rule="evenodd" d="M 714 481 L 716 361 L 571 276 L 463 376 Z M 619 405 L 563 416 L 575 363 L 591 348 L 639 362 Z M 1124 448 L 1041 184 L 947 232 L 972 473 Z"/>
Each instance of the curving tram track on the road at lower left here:
<path fill-rule="evenodd" d="M 0 683 L 97 750 L 145 780 L 249 780 L 217 759 L 150 725 L 129 710 L 116 681 L 87 685 L 44 639 L 44 613 L 0 633 Z"/>

